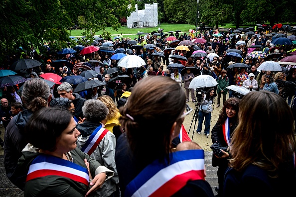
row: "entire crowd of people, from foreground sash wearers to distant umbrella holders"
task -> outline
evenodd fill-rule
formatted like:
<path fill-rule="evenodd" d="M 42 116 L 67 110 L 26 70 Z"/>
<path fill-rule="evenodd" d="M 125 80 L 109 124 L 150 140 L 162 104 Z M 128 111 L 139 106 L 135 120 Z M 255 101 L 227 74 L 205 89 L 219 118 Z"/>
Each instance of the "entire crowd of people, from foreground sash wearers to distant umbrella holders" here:
<path fill-rule="evenodd" d="M 217 86 L 201 96 L 196 132 L 201 134 L 203 124 L 207 137 L 211 130 L 218 197 L 294 193 L 296 68 L 289 65 L 283 72 L 257 69 L 265 61 L 285 58 L 295 46 L 272 46 L 269 40 L 273 38 L 265 32 L 258 31 L 249 39 L 233 35 L 231 29 L 215 36 L 222 32 L 210 29 L 188 36 L 171 33 L 179 42 L 206 40 L 188 45 L 188 50 L 178 50 L 162 30 L 159 33 L 160 37 L 148 34 L 135 38 L 138 47 L 129 46 L 131 38 L 116 39 L 114 51 L 122 48 L 129 54 L 130 48 L 129 55 L 141 57 L 146 64 L 121 67 L 110 74 L 108 70 L 118 68 L 118 60 L 100 50 L 84 55 L 50 54 L 46 58 L 36 53 L 22 55 L 33 55 L 40 60 L 40 67 L 18 73 L 32 78 L 25 83 L 1 88 L 0 117 L 5 134 L 0 145 L 8 179 L 26 197 L 213 197 L 205 179 L 203 150 L 180 137 L 184 118 L 192 111 L 187 102 L 190 97 L 193 103 L 198 101 L 189 85 L 200 75 L 210 75 L 217 81 Z M 95 45 L 107 41 L 101 39 Z M 246 44 L 236 45 L 238 41 Z M 276 58 L 248 57 L 253 44 L 277 53 Z M 241 51 L 242 58 L 228 56 L 228 49 Z M 261 51 L 261 47 L 254 49 Z M 196 56 L 196 50 L 206 55 Z M 163 51 L 163 56 L 155 55 L 156 51 Z M 209 54 L 216 55 L 208 58 Z M 68 62 L 54 66 L 56 60 Z M 5 68 L 15 61 L 16 57 L 7 60 Z M 236 63 L 247 66 L 228 69 Z M 44 73 L 62 78 L 79 76 L 87 69 L 76 69 L 77 64 L 97 72 L 88 81 L 99 80 L 105 85 L 75 92 L 77 84 L 63 82 L 51 89 L 40 77 Z M 186 72 L 170 67 L 173 64 L 182 65 Z M 250 93 L 240 99 L 229 92 L 227 99 L 231 85 Z M 222 107 L 211 129 L 216 96 L 215 107 Z M 260 192 L 255 194 L 250 188 Z"/>

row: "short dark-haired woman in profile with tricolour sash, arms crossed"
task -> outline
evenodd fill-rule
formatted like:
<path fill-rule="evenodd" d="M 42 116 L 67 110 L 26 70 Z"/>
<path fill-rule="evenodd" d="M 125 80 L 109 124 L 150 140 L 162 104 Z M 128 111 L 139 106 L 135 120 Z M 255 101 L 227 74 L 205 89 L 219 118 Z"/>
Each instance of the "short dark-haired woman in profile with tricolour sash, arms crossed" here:
<path fill-rule="evenodd" d="M 80 132 L 64 109 L 40 109 L 25 131 L 29 144 L 22 151 L 17 169 L 28 172 L 25 197 L 89 196 L 114 175 L 76 147 Z"/>

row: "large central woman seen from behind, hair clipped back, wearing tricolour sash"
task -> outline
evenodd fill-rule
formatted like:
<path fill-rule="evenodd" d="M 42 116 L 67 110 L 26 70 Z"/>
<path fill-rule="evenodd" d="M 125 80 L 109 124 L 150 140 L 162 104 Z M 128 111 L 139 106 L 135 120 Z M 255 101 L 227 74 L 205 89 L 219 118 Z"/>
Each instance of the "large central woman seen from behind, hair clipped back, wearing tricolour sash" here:
<path fill-rule="evenodd" d="M 213 197 L 203 150 L 172 150 L 172 140 L 192 111 L 185 103 L 179 83 L 149 76 L 120 108 L 124 133 L 116 142 L 115 161 L 123 197 Z"/>

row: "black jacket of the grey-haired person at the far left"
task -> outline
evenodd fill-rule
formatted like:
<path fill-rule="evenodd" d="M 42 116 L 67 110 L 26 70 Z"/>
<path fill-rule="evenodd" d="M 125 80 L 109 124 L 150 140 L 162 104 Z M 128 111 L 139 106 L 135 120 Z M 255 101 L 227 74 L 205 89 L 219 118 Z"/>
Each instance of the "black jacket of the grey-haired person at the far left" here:
<path fill-rule="evenodd" d="M 19 112 L 7 125 L 4 135 L 4 166 L 8 179 L 21 190 L 24 189 L 25 178 L 22 179 L 15 168 L 18 159 L 22 156 L 22 149 L 28 141 L 24 135 L 24 127 L 33 114 L 30 110 Z"/>

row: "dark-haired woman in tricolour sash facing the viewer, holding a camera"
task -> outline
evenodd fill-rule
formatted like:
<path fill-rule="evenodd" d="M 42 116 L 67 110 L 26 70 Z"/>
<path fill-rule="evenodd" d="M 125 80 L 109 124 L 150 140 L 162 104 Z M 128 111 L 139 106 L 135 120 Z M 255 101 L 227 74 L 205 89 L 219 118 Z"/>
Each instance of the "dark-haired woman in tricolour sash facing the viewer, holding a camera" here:
<path fill-rule="evenodd" d="M 212 142 L 217 143 L 222 147 L 228 147 L 230 143 L 230 137 L 238 124 L 238 111 L 239 111 L 238 98 L 228 98 L 223 104 L 223 108 L 219 113 L 217 123 L 212 129 Z M 224 173 L 228 167 L 229 153 L 221 150 L 224 155 L 217 156 L 213 151 L 212 165 L 213 167 L 218 166 L 217 177 L 219 188 L 216 188 L 218 197 L 223 196 L 223 182 Z"/>

